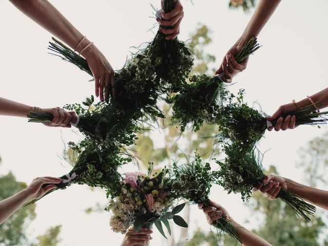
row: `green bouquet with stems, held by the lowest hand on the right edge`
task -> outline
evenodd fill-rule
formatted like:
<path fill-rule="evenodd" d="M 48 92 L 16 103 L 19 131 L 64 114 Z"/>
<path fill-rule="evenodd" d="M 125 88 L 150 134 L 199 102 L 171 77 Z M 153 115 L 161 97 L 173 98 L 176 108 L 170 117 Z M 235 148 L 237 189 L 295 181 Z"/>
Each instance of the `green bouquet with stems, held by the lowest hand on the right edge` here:
<path fill-rule="evenodd" d="M 228 193 L 241 193 L 243 200 L 249 200 L 252 189 L 261 185 L 265 175 L 259 156 L 256 156 L 255 150 L 244 150 L 243 146 L 238 144 L 226 144 L 224 152 L 227 157 L 224 161 L 216 160 L 220 170 L 216 172 L 216 178 Z M 303 201 L 293 192 L 281 188 L 277 197 L 286 202 L 298 216 L 310 221 L 307 215 L 313 215 L 316 208 Z"/>

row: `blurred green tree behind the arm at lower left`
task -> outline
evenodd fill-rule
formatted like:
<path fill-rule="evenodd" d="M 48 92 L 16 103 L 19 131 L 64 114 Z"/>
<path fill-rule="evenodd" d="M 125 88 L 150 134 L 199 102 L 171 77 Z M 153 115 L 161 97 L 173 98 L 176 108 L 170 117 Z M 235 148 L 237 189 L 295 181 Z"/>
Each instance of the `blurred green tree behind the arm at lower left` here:
<path fill-rule="evenodd" d="M 17 182 L 14 175 L 9 173 L 0 177 L 0 200 L 4 200 L 27 187 L 24 182 Z M 35 205 L 19 209 L 0 225 L 0 244 L 26 245 L 25 229 L 35 218 Z"/>

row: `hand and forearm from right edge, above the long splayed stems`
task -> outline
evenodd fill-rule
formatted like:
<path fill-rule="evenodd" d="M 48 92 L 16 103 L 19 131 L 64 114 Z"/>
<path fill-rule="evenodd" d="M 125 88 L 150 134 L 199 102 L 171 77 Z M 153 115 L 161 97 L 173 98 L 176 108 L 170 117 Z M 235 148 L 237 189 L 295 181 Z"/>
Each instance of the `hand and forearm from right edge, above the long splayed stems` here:
<path fill-rule="evenodd" d="M 259 189 L 263 193 L 263 196 L 267 197 L 269 200 L 275 200 L 277 199 L 281 187 L 294 192 L 305 201 L 328 210 L 328 191 L 305 186 L 292 179 L 284 178 L 276 174 L 270 174 L 265 177 L 263 185 L 256 187 L 256 189 Z"/>

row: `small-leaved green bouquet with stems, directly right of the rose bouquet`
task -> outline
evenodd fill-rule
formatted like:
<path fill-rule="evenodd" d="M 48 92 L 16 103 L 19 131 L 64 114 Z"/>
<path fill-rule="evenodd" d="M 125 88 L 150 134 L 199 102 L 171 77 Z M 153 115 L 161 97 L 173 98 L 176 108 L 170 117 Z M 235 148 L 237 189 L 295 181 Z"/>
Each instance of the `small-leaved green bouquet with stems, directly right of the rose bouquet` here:
<path fill-rule="evenodd" d="M 204 207 L 209 206 L 212 183 L 218 178 L 216 172 L 211 171 L 210 163 L 203 163 L 196 153 L 194 160 L 183 165 L 173 163 L 172 171 L 174 174 L 172 188 L 177 197 L 188 199 L 196 204 L 203 203 Z M 222 217 L 216 220 L 213 226 L 240 241 L 229 219 Z"/>

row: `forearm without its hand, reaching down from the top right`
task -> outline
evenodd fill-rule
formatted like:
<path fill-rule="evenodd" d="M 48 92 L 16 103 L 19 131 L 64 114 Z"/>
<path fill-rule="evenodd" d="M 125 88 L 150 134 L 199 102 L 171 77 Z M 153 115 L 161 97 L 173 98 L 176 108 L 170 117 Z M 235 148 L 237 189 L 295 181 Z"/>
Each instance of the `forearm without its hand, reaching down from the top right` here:
<path fill-rule="evenodd" d="M 249 24 L 237 41 L 238 45 L 243 46 L 252 37 L 258 36 L 273 12 L 275 12 L 280 1 L 281 0 L 259 0 Z"/>

